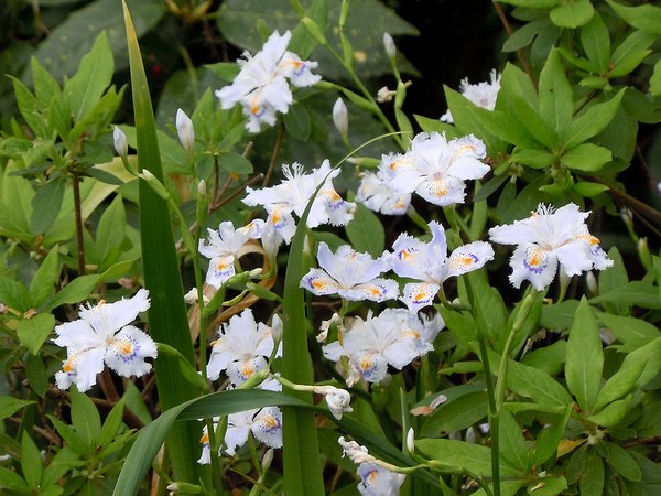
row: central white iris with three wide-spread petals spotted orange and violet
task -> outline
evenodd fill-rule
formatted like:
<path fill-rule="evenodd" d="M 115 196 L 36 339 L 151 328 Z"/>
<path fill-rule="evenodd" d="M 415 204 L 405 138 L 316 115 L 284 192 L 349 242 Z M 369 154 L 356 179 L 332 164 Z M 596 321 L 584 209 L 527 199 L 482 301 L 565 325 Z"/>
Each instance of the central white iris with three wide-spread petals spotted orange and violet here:
<path fill-rule="evenodd" d="M 446 279 L 477 270 L 494 259 L 494 248 L 485 241 L 463 245 L 448 257 L 445 229 L 436 222 L 429 226 L 430 242 L 401 234 L 392 245 L 393 254 L 388 257 L 388 263 L 398 276 L 422 281 L 404 285 L 404 295 L 400 298 L 411 312 L 431 305 Z"/>

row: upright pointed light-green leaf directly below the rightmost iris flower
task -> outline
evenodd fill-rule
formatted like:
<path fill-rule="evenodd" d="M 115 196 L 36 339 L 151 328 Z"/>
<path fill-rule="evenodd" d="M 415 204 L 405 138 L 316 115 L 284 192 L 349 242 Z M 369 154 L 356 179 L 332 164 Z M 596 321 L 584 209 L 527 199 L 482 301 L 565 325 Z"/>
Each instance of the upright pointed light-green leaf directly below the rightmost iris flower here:
<path fill-rule="evenodd" d="M 565 378 L 570 391 L 584 411 L 592 413 L 599 391 L 604 349 L 599 326 L 587 300 L 583 298 L 567 341 Z"/>

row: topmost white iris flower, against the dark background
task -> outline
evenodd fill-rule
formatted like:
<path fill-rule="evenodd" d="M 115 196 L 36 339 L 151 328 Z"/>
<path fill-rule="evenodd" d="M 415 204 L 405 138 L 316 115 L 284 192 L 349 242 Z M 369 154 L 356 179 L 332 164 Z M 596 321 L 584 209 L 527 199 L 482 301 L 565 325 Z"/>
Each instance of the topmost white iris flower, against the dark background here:
<path fill-rule="evenodd" d="M 311 72 L 316 62 L 302 61 L 286 51 L 291 37 L 290 31 L 283 35 L 275 31 L 258 53 L 245 52 L 245 58 L 238 61 L 241 71 L 232 84 L 216 91 L 224 109 L 242 105 L 248 117 L 246 128 L 251 132 L 258 132 L 262 125 L 273 126 L 277 112 L 288 112 L 293 103 L 289 83 L 305 87 L 321 79 Z"/>

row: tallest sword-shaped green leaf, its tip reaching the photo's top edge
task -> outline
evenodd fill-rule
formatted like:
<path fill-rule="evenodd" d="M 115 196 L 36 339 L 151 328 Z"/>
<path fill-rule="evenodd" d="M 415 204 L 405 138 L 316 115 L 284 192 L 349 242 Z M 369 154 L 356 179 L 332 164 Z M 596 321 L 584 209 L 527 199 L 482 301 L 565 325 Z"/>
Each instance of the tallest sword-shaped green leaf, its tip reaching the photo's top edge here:
<path fill-rule="evenodd" d="M 126 2 L 123 2 L 123 14 L 131 72 L 138 169 L 149 170 L 163 183 L 149 85 L 138 45 L 138 33 Z M 149 289 L 151 299 L 148 311 L 151 335 L 154 341 L 178 349 L 187 360 L 193 363 L 193 343 L 183 299 L 184 290 L 169 205 L 144 181 L 139 182 L 138 191 L 142 269 L 144 285 Z M 199 391 L 191 388 L 181 376 L 176 359 L 167 356 L 159 358 L 154 362 L 154 371 L 162 410 L 171 409 L 199 395 Z M 180 423 L 172 429 L 167 446 L 175 479 L 197 482 L 199 478 L 208 478 L 208 471 L 195 463 L 196 446 L 191 443 L 191 439 L 196 435 L 199 435 L 199 431 L 192 422 Z M 132 494 L 132 492 L 121 494 Z"/>

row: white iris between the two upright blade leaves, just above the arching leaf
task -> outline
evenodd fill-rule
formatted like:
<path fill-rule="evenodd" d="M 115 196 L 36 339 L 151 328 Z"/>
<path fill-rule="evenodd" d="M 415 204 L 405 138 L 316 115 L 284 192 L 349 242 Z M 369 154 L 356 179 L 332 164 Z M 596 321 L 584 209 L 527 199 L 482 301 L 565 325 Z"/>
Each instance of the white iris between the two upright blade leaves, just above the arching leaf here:
<path fill-rule="evenodd" d="M 273 316 L 273 325 L 278 325 Z M 267 368 L 275 343 L 271 327 L 254 322 L 250 309 L 235 315 L 218 330 L 218 339 L 212 343 L 212 355 L 207 365 L 207 377 L 215 380 L 223 370 L 232 385 L 239 386 L 256 373 Z M 280 353 L 280 352 L 279 352 Z"/>

